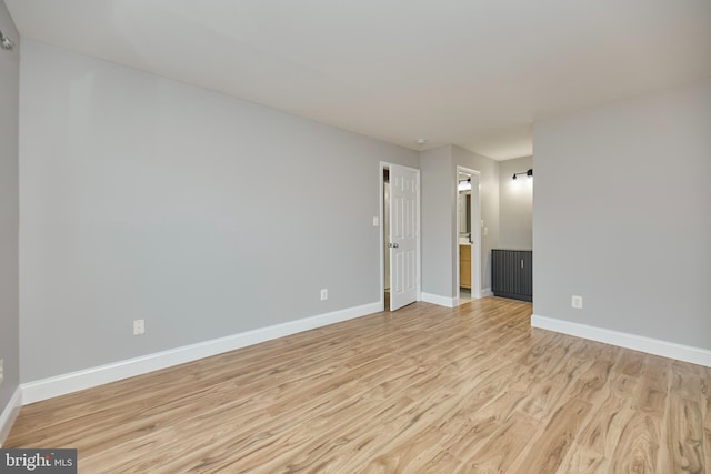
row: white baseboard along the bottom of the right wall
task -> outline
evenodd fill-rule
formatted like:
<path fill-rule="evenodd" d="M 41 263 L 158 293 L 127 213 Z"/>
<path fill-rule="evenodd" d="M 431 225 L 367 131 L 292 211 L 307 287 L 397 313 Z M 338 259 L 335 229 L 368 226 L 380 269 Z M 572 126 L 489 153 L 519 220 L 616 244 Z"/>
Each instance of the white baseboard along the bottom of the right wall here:
<path fill-rule="evenodd" d="M 708 349 L 677 344 L 674 342 L 539 316 L 537 314 L 531 315 L 531 327 L 540 327 L 711 367 L 711 350 Z"/>

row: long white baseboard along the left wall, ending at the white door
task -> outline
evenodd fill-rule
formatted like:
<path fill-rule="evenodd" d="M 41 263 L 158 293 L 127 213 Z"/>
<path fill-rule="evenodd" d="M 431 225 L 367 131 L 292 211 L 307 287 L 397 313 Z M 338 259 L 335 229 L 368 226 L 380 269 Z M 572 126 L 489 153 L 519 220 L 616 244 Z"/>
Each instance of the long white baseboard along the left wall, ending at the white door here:
<path fill-rule="evenodd" d="M 97 367 L 84 369 L 68 374 L 57 375 L 33 382 L 23 383 L 22 403 L 34 403 L 53 396 L 64 395 L 79 390 L 90 389 L 109 382 L 116 382 L 134 375 L 170 367 L 186 362 L 197 361 L 223 352 L 233 351 L 272 339 L 283 337 L 303 331 L 326 326 L 341 321 L 352 320 L 382 311 L 382 303 L 370 303 L 348 307 L 331 313 L 319 314 L 302 320 L 260 327 L 226 337 L 199 342 L 156 352 L 140 357 L 128 359 Z"/>

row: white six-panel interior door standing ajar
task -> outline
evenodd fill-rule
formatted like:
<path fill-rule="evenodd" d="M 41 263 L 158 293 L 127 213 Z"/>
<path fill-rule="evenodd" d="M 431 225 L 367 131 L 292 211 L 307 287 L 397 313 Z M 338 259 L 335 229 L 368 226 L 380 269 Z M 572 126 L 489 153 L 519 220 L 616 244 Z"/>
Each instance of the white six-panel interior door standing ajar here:
<path fill-rule="evenodd" d="M 419 183 L 418 170 L 390 165 L 390 311 L 418 300 Z"/>

